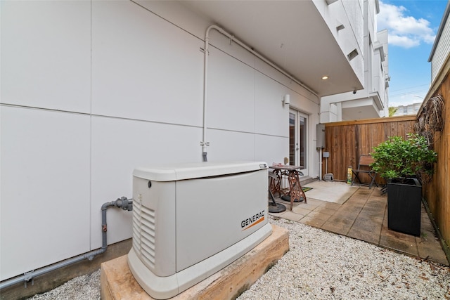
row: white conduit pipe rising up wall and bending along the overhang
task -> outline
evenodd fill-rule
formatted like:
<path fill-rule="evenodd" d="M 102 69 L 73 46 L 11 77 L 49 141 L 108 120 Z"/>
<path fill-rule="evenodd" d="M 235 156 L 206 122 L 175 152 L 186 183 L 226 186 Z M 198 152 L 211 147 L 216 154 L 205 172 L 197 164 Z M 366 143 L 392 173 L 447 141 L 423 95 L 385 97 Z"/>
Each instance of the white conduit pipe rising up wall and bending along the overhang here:
<path fill-rule="evenodd" d="M 223 28 L 221 28 L 221 27 L 219 27 L 217 25 L 210 25 L 210 27 L 207 27 L 207 30 L 205 32 L 205 49 L 204 49 L 205 50 L 205 64 L 204 64 L 204 70 L 203 70 L 203 141 L 200 143 L 200 145 L 203 146 L 202 150 L 203 150 L 203 161 L 204 162 L 207 161 L 206 148 L 210 144 L 209 142 L 206 141 L 206 130 L 207 130 L 207 119 L 206 119 L 206 115 L 207 115 L 207 79 L 208 79 L 207 71 L 208 71 L 208 48 L 210 46 L 210 30 L 217 30 L 221 34 L 224 34 L 224 36 L 228 37 L 231 41 L 235 41 L 236 44 L 238 44 L 239 46 L 245 48 L 245 50 L 249 51 L 253 55 L 257 56 L 257 58 L 259 58 L 262 61 L 264 61 L 264 63 L 266 63 L 267 65 L 270 65 L 275 70 L 277 70 L 278 72 L 281 72 L 281 74 L 284 74 L 286 77 L 288 77 L 289 79 L 291 79 L 295 83 L 299 84 L 300 86 L 302 86 L 304 89 L 306 89 L 310 93 L 313 93 L 315 96 L 319 97 L 319 95 L 315 91 L 313 91 L 312 89 L 309 89 L 308 86 L 305 86 L 304 84 L 302 84 L 301 81 L 293 78 L 290 74 L 288 74 L 288 72 L 285 72 L 285 70 L 281 69 L 281 67 L 278 67 L 277 65 L 272 63 L 270 60 L 268 60 L 267 58 L 265 58 L 261 54 L 257 53 L 255 50 L 253 50 L 249 46 L 245 45 L 242 41 L 236 39 L 236 37 L 234 37 L 233 34 L 229 34 Z"/>

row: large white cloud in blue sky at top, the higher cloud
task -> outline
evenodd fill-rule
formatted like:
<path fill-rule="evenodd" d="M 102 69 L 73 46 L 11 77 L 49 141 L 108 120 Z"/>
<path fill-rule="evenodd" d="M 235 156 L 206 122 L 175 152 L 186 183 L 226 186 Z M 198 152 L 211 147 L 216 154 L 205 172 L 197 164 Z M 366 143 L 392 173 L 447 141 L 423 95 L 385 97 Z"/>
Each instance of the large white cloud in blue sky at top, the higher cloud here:
<path fill-rule="evenodd" d="M 416 19 L 407 15 L 404 6 L 394 6 L 380 1 L 380 13 L 377 16 L 378 30 L 388 30 L 390 45 L 411 48 L 421 42 L 432 44 L 435 34 L 430 22 L 423 18 Z"/>

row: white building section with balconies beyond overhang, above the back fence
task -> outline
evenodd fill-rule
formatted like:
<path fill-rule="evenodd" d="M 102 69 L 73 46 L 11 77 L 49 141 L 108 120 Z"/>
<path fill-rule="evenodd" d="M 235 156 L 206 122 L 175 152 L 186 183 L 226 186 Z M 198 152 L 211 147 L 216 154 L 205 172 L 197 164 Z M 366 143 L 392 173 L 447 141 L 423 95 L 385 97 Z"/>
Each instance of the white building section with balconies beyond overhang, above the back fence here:
<path fill-rule="evenodd" d="M 377 32 L 379 12 L 378 1 L 364 1 L 364 89 L 322 97 L 322 123 L 389 115 L 387 30 Z"/>

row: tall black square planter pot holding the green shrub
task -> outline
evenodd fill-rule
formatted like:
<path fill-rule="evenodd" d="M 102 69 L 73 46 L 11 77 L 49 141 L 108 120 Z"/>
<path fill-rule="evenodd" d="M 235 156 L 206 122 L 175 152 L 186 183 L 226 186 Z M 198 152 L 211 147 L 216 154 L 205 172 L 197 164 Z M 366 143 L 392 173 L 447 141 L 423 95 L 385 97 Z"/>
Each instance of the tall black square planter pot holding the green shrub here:
<path fill-rule="evenodd" d="M 420 235 L 422 185 L 416 178 L 392 178 L 387 182 L 387 227 Z"/>

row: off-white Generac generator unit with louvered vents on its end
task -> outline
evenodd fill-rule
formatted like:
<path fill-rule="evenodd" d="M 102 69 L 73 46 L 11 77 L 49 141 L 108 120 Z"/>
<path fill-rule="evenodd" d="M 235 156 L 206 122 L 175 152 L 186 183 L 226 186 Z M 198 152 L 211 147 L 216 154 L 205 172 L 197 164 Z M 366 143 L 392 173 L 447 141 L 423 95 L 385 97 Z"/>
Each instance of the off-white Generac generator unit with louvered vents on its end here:
<path fill-rule="evenodd" d="M 128 264 L 155 299 L 183 292 L 271 235 L 265 162 L 135 169 Z"/>

